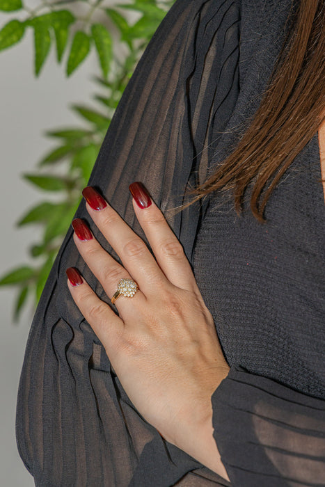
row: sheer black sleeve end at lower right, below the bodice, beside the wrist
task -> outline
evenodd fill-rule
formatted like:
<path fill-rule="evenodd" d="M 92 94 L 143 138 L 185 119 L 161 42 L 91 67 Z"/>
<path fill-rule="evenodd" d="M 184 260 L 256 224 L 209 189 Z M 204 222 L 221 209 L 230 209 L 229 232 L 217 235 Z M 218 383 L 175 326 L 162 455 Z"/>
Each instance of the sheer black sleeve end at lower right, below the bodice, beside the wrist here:
<path fill-rule="evenodd" d="M 325 486 L 324 401 L 232 367 L 212 407 L 232 486 Z"/>

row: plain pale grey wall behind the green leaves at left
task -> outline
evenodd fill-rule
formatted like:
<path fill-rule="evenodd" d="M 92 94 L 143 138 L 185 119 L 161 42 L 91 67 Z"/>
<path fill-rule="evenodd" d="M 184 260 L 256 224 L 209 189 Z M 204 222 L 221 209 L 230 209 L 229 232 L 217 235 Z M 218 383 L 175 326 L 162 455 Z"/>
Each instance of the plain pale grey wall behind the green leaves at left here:
<path fill-rule="evenodd" d="M 34 3 L 40 3 L 35 2 Z M 0 26 L 10 15 L 0 14 Z M 51 147 L 42 137 L 45 129 L 70 125 L 79 120 L 68 110 L 71 102 L 88 102 L 95 91 L 90 81 L 97 72 L 95 54 L 65 78 L 56 65 L 54 49 L 39 79 L 33 77 L 33 38 L 0 52 L 0 146 L 1 146 L 1 244 L 0 274 L 31 259 L 27 247 L 38 240 L 38 228 L 17 229 L 15 221 L 40 201 L 41 193 L 22 180 Z M 12 323 L 14 289 L 0 289 L 0 485 L 29 487 L 33 479 L 20 461 L 15 445 L 15 406 L 19 372 L 32 316 L 25 312 L 19 324 Z M 30 308 L 30 307 L 29 307 Z"/>

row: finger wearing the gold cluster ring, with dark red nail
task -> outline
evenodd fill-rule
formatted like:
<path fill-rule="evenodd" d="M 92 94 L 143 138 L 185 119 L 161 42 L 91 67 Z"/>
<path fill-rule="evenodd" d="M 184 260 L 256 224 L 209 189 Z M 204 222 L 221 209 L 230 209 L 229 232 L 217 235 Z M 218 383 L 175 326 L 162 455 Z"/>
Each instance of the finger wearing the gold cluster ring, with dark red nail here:
<path fill-rule="evenodd" d="M 129 272 L 123 266 L 118 264 L 118 262 L 116 262 L 116 260 L 113 259 L 113 257 L 109 255 L 104 248 L 102 248 L 84 220 L 81 220 L 81 218 L 74 218 L 72 221 L 72 227 L 74 229 L 74 243 L 76 244 L 81 257 L 83 257 L 90 271 L 92 271 L 96 278 L 100 281 L 107 296 L 109 296 L 111 299 L 116 293 L 118 282 L 121 279 L 133 280 L 132 276 L 130 276 Z M 126 310 L 128 308 L 128 306 L 125 308 L 125 305 L 127 305 L 129 299 L 123 298 L 124 296 L 121 296 L 116 300 L 115 303 L 119 312 L 122 301 L 125 301 L 125 304 L 123 304 L 123 309 Z M 139 289 L 134 298 L 138 300 L 145 298 L 145 296 Z M 134 311 L 134 303 L 133 307 L 130 309 L 133 309 Z"/>

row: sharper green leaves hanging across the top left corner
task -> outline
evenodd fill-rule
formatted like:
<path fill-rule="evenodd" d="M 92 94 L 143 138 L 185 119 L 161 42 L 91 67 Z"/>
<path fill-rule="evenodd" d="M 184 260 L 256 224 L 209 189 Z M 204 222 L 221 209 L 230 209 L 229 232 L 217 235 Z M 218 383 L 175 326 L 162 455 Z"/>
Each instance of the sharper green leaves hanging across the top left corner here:
<path fill-rule="evenodd" d="M 78 3 L 86 3 L 89 7 L 86 15 L 77 15 L 69 6 L 77 7 Z M 33 30 L 34 36 L 34 72 L 40 71 L 49 54 L 51 43 L 56 43 L 56 57 L 58 63 L 63 60 L 65 49 L 68 48 L 68 59 L 65 67 L 70 76 L 86 59 L 90 50 L 95 47 L 102 68 L 103 77 L 109 74 L 109 65 L 113 58 L 113 39 L 108 26 L 115 24 L 122 35 L 121 41 L 132 46 L 136 39 L 150 40 L 157 25 L 166 15 L 166 8 L 171 1 L 158 4 L 155 0 L 135 0 L 129 4 L 104 6 L 104 0 L 65 0 L 49 2 L 42 0 L 34 10 L 24 6 L 22 0 L 0 0 L 0 10 L 6 13 L 25 12 L 26 18 L 10 19 L 0 30 L 0 51 L 12 47 L 22 40 L 26 29 Z M 63 6 L 67 8 L 62 9 Z M 122 10 L 134 10 L 141 13 L 141 18 L 133 26 L 121 15 Z M 93 22 L 95 13 L 104 13 L 108 19 L 104 23 Z M 72 34 L 72 26 L 74 33 Z M 77 29 L 77 30 L 76 30 Z M 69 42 L 70 40 L 70 42 Z"/>

